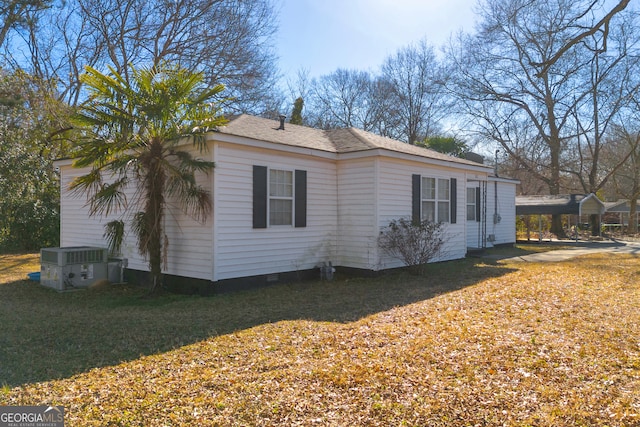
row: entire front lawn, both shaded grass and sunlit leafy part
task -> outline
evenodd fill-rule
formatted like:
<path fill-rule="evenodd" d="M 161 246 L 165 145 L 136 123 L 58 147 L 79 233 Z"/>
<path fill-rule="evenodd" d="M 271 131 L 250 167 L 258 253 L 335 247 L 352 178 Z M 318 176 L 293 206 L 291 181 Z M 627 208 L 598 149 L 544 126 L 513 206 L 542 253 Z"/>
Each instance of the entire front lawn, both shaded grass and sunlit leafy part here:
<path fill-rule="evenodd" d="M 638 426 L 638 261 L 148 300 L 57 293 L 23 280 L 37 256 L 1 256 L 0 404 L 69 426 Z"/>

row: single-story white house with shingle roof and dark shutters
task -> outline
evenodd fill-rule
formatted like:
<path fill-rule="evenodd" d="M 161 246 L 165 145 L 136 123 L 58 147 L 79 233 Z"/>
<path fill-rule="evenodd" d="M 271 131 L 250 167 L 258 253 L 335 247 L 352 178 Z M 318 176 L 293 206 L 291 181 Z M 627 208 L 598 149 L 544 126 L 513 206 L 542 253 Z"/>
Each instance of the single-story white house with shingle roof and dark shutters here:
<path fill-rule="evenodd" d="M 216 167 L 201 183 L 212 215 L 202 224 L 169 204 L 167 277 L 201 283 L 266 283 L 318 267 L 379 271 L 402 266 L 381 252 L 382 227 L 401 217 L 445 223 L 436 261 L 468 248 L 515 242 L 516 181 L 492 168 L 360 129 L 320 130 L 250 115 L 207 137 L 201 156 Z M 86 173 L 71 160 L 61 174 L 61 246 L 105 246 L 103 224 L 68 186 Z M 147 262 L 129 236 L 128 268 Z"/>

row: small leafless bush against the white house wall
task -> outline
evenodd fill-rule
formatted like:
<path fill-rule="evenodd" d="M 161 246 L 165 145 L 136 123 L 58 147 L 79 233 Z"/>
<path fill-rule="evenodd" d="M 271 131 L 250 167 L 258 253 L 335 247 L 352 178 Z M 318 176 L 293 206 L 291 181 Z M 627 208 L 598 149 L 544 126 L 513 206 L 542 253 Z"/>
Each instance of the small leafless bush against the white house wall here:
<path fill-rule="evenodd" d="M 389 256 L 402 261 L 409 271 L 422 275 L 426 264 L 437 257 L 444 244 L 444 224 L 406 218 L 393 220 L 381 232 L 378 246 Z"/>

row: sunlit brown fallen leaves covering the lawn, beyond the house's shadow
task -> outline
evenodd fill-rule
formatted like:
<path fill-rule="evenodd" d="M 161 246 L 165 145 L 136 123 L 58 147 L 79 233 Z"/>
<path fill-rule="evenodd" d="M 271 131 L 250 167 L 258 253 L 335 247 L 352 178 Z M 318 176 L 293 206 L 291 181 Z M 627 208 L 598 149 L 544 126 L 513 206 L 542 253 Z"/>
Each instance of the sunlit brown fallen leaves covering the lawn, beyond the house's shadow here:
<path fill-rule="evenodd" d="M 638 259 L 510 267 L 353 322 L 264 323 L 0 403 L 63 405 L 74 426 L 640 425 Z"/>

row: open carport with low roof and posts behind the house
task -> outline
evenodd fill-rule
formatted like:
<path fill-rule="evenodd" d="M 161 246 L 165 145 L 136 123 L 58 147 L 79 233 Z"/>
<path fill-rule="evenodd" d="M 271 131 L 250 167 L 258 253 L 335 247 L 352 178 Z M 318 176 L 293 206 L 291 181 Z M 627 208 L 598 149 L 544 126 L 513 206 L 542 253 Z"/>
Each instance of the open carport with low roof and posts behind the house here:
<path fill-rule="evenodd" d="M 573 224 L 577 226 L 583 215 L 598 215 L 602 218 L 604 212 L 604 203 L 593 193 L 516 196 L 516 215 L 539 215 L 539 241 L 542 240 L 542 215 L 577 215 L 578 221 Z M 569 223 L 570 227 L 571 225 Z"/>

